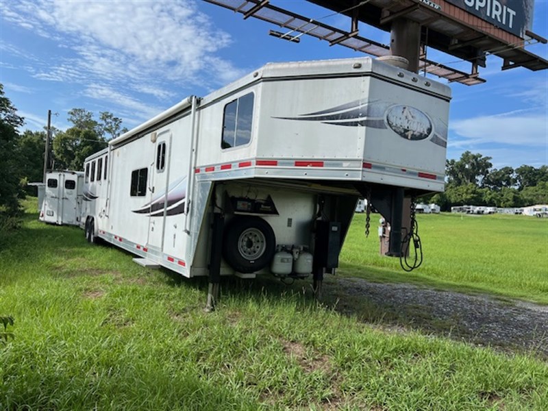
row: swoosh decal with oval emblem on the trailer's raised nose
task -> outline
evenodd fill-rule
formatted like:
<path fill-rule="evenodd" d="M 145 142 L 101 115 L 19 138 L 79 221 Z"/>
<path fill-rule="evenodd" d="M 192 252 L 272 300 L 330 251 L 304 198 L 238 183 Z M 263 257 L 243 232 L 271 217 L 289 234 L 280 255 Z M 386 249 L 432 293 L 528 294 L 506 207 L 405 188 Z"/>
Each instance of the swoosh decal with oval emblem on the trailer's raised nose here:
<path fill-rule="evenodd" d="M 333 108 L 299 114 L 297 117 L 273 117 L 281 120 L 320 121 L 324 124 L 346 127 L 390 128 L 406 140 L 430 141 L 441 147 L 447 147 L 447 125 L 438 119 L 431 120 L 418 108 L 409 105 L 388 103 L 386 101 L 352 101 Z"/>

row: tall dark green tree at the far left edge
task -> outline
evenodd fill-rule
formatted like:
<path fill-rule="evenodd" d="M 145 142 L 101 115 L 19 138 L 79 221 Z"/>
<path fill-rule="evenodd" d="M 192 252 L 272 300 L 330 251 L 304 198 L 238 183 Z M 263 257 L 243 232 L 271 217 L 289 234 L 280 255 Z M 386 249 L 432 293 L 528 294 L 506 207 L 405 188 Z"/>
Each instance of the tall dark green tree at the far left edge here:
<path fill-rule="evenodd" d="M 22 193 L 20 168 L 16 158 L 17 127 L 23 125 L 23 117 L 5 97 L 0 84 L 0 213 L 14 215 L 18 212 L 18 197 Z"/>

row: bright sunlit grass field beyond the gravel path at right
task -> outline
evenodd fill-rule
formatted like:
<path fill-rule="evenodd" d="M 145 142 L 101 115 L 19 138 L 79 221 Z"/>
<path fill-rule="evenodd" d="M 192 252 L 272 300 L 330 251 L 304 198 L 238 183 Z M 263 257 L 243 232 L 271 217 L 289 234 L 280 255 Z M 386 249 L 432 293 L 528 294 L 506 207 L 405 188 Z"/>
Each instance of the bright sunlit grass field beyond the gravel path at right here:
<path fill-rule="evenodd" d="M 379 256 L 378 218 L 379 214 L 371 216 L 371 235 L 366 239 L 365 216 L 356 214 L 338 273 L 548 304 L 548 219 L 419 214 L 424 261 L 406 273 L 399 259 Z"/>

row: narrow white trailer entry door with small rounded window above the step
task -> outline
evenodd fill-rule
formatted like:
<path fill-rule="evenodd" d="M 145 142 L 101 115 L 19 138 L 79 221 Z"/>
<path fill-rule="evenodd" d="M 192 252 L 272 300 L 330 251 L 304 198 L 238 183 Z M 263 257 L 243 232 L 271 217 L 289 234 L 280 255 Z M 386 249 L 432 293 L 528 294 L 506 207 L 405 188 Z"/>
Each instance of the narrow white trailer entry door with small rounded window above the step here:
<path fill-rule="evenodd" d="M 163 250 L 164 230 L 167 208 L 169 207 L 167 191 L 169 185 L 169 153 L 171 152 L 171 133 L 169 129 L 158 134 L 155 143 L 154 162 L 151 167 L 149 193 L 151 212 L 149 217 L 148 247 Z"/>

